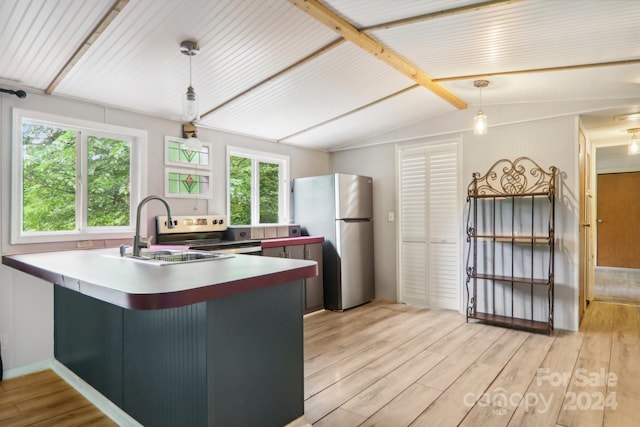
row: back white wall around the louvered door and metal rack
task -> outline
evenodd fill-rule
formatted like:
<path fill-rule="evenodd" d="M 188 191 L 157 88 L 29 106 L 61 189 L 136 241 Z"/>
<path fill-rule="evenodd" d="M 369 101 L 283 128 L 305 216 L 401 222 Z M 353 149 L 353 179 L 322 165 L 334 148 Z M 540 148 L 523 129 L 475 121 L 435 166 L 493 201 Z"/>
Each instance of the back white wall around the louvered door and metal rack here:
<path fill-rule="evenodd" d="M 398 144 L 439 142 L 459 137 L 459 133 L 440 133 L 425 137 L 422 126 L 402 135 Z M 455 128 L 455 126 L 454 126 Z M 556 201 L 556 277 L 555 326 L 558 329 L 577 330 L 578 287 L 578 119 L 577 116 L 535 120 L 496 126 L 485 136 L 470 131 L 462 133 L 463 189 L 459 197 L 464 200 L 466 186 L 473 172 L 486 170 L 502 158 L 531 157 L 541 166 L 559 168 Z M 395 209 L 395 144 L 386 143 L 366 148 L 333 153 L 332 172 L 368 175 L 374 179 L 374 256 L 376 297 L 396 298 L 396 229 L 395 223 L 386 221 L 387 212 Z M 466 246 L 463 245 L 466 250 Z M 465 252 L 466 253 L 466 252 Z M 462 254 L 461 254 L 462 256 Z M 464 258 L 462 258 L 464 265 Z M 461 294 L 464 294 L 461 293 Z"/>

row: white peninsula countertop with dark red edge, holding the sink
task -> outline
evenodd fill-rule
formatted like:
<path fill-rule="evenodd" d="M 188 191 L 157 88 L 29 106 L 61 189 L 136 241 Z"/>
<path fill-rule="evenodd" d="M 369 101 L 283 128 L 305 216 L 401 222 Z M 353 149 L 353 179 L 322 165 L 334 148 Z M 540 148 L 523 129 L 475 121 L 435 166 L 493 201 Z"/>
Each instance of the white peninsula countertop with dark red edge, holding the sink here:
<path fill-rule="evenodd" d="M 160 266 L 122 258 L 118 248 L 5 255 L 2 263 L 135 310 L 180 307 L 318 274 L 315 261 L 235 255 Z"/>

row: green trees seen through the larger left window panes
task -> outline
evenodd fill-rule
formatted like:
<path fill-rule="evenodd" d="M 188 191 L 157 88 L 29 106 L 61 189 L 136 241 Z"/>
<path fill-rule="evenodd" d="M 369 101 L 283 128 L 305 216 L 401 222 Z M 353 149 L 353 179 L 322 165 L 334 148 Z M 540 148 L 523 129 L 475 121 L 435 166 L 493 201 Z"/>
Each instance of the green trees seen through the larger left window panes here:
<path fill-rule="evenodd" d="M 131 143 L 88 136 L 80 150 L 81 140 L 80 131 L 23 123 L 23 231 L 72 231 L 82 227 L 78 218 L 89 227 L 130 225 Z M 86 156 L 84 181 L 79 152 Z M 80 215 L 79 181 L 87 186 L 86 214 Z"/>

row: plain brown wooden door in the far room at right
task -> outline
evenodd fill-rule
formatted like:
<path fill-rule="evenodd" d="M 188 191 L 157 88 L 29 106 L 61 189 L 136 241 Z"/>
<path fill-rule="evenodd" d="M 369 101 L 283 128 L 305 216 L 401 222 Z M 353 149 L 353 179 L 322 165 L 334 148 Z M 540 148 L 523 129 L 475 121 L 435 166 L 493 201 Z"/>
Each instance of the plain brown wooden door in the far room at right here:
<path fill-rule="evenodd" d="M 598 266 L 640 268 L 640 172 L 598 175 Z"/>

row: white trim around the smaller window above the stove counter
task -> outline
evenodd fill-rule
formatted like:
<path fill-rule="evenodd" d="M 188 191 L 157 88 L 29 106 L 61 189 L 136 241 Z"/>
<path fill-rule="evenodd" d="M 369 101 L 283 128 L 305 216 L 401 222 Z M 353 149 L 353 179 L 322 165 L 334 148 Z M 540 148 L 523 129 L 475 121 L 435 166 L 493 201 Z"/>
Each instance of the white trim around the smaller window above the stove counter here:
<path fill-rule="evenodd" d="M 278 192 L 278 217 L 280 218 L 280 222 L 279 224 L 289 224 L 289 203 L 290 203 L 290 183 L 289 183 L 289 177 L 290 175 L 290 161 L 289 161 L 289 156 L 286 155 L 282 155 L 282 154 L 273 154 L 273 153 L 267 153 L 265 151 L 258 151 L 258 150 L 251 150 L 248 148 L 241 148 L 241 147 L 233 147 L 233 146 L 227 146 L 227 173 L 226 173 L 226 179 L 227 179 L 227 218 L 229 218 L 229 220 L 231 220 L 231 192 L 229 191 L 229 183 L 231 182 L 230 179 L 230 173 L 231 173 L 231 165 L 230 165 L 230 159 L 231 156 L 240 156 L 240 157 L 247 157 L 250 159 L 254 159 L 254 160 L 262 160 L 262 161 L 271 161 L 271 162 L 277 162 L 281 165 L 280 167 L 280 191 Z M 252 180 L 257 180 L 257 177 L 254 175 L 252 176 Z M 257 182 L 252 182 L 251 183 L 251 187 L 252 188 L 257 188 L 258 183 Z M 258 210 L 258 204 L 254 203 L 255 198 L 257 198 L 257 195 L 252 194 L 252 203 L 251 203 L 251 218 L 252 221 L 254 218 L 259 218 L 259 212 L 257 212 Z M 249 224 L 249 225 L 267 225 L 267 224 L 259 224 L 259 223 L 254 223 L 254 224 Z"/>

